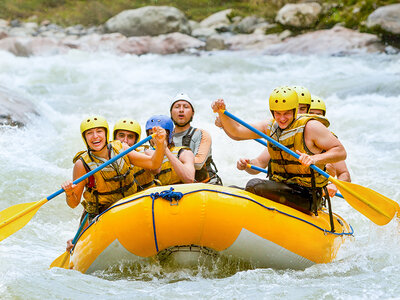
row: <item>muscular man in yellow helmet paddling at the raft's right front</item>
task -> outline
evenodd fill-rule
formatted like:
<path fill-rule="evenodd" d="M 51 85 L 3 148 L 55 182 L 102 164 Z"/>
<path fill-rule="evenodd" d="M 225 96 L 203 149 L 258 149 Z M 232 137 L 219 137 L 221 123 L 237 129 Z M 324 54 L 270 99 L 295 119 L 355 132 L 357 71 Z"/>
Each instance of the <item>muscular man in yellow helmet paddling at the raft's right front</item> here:
<path fill-rule="evenodd" d="M 317 213 L 322 202 L 322 188 L 328 182 L 325 177 L 315 174 L 309 166 L 315 164 L 323 168 L 327 163 L 344 160 L 346 151 L 327 129 L 327 120 L 323 117 L 316 120 L 312 116 L 298 115 L 298 108 L 298 95 L 293 88 L 276 88 L 269 97 L 269 110 L 273 119 L 251 124 L 296 151 L 300 155 L 298 160 L 268 143 L 268 151 L 263 151 L 255 160 L 240 159 L 237 167 L 248 171 L 249 163 L 260 164 L 258 167 L 261 168 L 268 166 L 269 180 L 251 179 L 246 185 L 247 191 L 299 210 Z M 214 101 L 212 109 L 219 114 L 224 130 L 235 140 L 259 138 L 256 133 L 223 113 L 226 109 L 223 99 Z M 256 171 L 249 173 L 254 174 Z"/>

